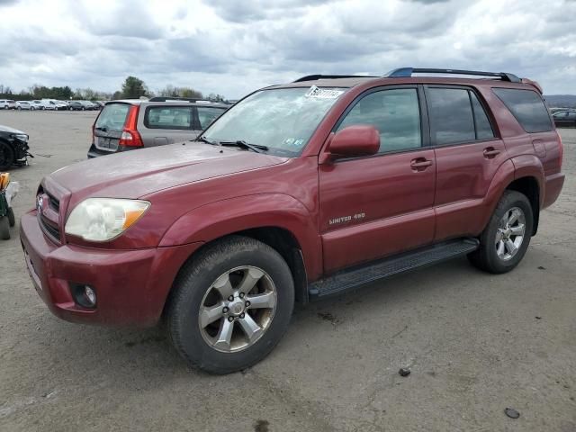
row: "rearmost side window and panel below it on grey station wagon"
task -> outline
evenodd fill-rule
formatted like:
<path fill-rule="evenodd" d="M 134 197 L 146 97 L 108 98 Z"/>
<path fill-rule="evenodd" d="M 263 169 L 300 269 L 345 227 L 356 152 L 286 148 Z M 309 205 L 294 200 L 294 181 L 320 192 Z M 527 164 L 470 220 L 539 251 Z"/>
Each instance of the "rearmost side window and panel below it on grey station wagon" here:
<path fill-rule="evenodd" d="M 139 127 L 144 147 L 164 146 L 194 139 L 192 105 L 150 105 Z"/>

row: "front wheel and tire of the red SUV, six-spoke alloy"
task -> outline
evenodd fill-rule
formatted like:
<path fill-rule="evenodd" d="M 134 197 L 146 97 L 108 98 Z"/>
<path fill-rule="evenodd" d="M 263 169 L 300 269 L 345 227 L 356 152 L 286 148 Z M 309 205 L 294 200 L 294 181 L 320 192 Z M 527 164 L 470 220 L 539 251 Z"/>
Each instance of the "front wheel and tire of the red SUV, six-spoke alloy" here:
<path fill-rule="evenodd" d="M 237 372 L 266 357 L 288 328 L 294 285 L 272 247 L 253 238 L 216 241 L 180 271 L 167 310 L 176 350 L 212 374 Z"/>

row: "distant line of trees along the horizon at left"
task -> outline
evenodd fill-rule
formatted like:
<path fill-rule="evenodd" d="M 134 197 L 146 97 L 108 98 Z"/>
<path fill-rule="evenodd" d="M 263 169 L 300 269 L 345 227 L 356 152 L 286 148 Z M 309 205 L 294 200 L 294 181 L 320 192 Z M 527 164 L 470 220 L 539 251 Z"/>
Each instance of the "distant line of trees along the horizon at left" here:
<path fill-rule="evenodd" d="M 138 99 L 139 97 L 166 96 L 166 97 L 190 97 L 196 99 L 208 99 L 222 102 L 226 99 L 222 94 L 204 95 L 192 87 L 177 87 L 166 85 L 166 87 L 153 92 L 148 85 L 136 76 L 128 76 L 121 85 L 121 89 L 114 92 L 100 92 L 92 88 L 76 88 L 73 91 L 68 85 L 63 87 L 48 87 L 46 85 L 32 85 L 26 90 L 15 93 L 7 85 L 0 84 L 0 99 L 14 99 L 16 101 L 31 101 L 33 99 L 58 99 L 58 100 L 85 100 L 85 101 L 106 101 L 112 99 Z"/>

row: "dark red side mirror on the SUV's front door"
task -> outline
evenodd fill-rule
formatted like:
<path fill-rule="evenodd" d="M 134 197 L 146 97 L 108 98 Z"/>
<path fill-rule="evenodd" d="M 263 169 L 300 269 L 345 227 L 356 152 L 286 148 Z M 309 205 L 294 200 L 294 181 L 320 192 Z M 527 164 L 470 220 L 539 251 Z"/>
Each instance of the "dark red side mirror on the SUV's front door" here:
<path fill-rule="evenodd" d="M 374 126 L 353 125 L 338 130 L 329 144 L 330 156 L 371 156 L 380 149 L 380 133 Z"/>

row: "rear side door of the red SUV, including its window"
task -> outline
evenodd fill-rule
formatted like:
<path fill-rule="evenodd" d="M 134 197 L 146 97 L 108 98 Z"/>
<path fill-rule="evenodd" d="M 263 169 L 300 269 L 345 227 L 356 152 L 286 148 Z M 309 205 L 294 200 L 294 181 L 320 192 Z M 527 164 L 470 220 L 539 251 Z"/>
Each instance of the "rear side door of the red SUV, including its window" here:
<path fill-rule="evenodd" d="M 483 198 L 506 160 L 504 143 L 472 87 L 426 85 L 425 93 L 437 165 L 435 241 L 476 234 Z"/>

